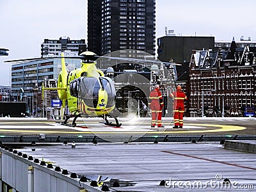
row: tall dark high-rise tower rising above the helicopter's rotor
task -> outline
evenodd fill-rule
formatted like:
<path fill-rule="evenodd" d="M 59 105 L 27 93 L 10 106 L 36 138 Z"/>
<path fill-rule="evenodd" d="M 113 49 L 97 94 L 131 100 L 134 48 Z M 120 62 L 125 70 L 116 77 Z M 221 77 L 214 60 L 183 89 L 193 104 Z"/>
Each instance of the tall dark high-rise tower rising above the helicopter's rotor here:
<path fill-rule="evenodd" d="M 88 0 L 88 51 L 155 54 L 156 0 Z"/>

